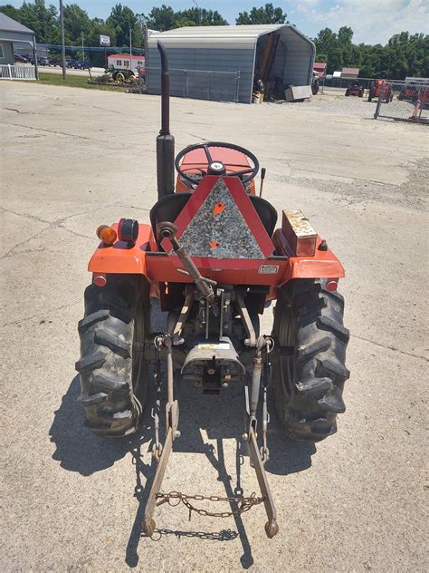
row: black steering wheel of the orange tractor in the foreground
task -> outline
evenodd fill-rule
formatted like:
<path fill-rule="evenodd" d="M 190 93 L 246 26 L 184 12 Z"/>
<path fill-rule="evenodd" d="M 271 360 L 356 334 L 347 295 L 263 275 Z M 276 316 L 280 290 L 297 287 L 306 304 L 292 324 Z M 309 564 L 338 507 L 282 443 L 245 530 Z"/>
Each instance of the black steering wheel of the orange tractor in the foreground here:
<path fill-rule="evenodd" d="M 251 167 L 249 164 L 244 165 L 237 163 L 228 163 L 227 165 L 224 165 L 222 161 L 216 160 L 214 157 L 212 157 L 210 150 L 215 147 L 221 147 L 225 150 L 234 150 L 243 153 L 243 155 L 245 155 L 246 158 L 252 161 L 253 167 Z M 240 147 L 239 145 L 234 145 L 234 143 L 224 143 L 224 141 L 207 141 L 206 143 L 196 143 L 195 145 L 188 145 L 184 150 L 177 153 L 175 161 L 177 173 L 181 177 L 183 177 L 183 179 L 193 184 L 195 183 L 195 179 L 193 179 L 189 174 L 186 174 L 186 170 L 182 170 L 182 160 L 186 156 L 186 153 L 195 150 L 205 151 L 208 175 L 223 175 L 227 177 L 228 176 L 234 177 L 234 176 L 244 176 L 248 174 L 247 177 L 243 177 L 242 179 L 242 183 L 243 185 L 245 185 L 246 183 L 249 183 L 251 180 L 253 180 L 253 178 L 256 177 L 256 174 L 259 171 L 259 161 L 253 155 L 253 153 L 249 150 L 244 149 L 243 147 Z M 243 170 L 234 171 L 229 169 L 229 172 L 227 172 L 228 168 L 231 167 L 243 167 Z M 197 167 L 193 169 L 201 171 L 201 169 Z"/>

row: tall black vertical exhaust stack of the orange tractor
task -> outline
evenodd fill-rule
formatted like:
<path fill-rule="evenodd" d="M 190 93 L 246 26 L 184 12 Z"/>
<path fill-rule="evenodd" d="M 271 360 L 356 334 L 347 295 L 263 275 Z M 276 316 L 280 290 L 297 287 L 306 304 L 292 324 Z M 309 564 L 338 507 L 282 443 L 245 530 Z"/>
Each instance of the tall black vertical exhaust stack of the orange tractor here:
<path fill-rule="evenodd" d="M 157 136 L 157 199 L 175 192 L 175 138 L 170 133 L 170 74 L 167 51 L 157 42 L 161 56 L 161 129 Z"/>

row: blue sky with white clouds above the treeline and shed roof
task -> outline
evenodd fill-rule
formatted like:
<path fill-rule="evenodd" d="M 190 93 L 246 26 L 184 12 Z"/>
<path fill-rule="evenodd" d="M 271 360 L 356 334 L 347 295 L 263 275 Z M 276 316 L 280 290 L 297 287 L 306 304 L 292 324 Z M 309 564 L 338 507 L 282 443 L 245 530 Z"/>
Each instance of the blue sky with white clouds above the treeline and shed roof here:
<path fill-rule="evenodd" d="M 64 0 L 64 4 L 76 3 L 91 17 L 106 18 L 112 5 L 121 1 L 134 12 L 147 14 L 153 5 L 171 5 L 176 10 L 195 6 L 193 0 L 164 0 L 164 2 L 141 2 L 138 0 Z M 249 11 L 253 5 L 264 5 L 267 0 L 196 0 L 201 8 L 217 10 L 234 24 L 235 17 L 243 10 Z M 22 1 L 5 0 L 14 6 Z M 50 0 L 46 0 L 49 4 Z M 52 4 L 58 5 L 55 0 Z M 389 37 L 398 32 L 411 33 L 429 31 L 429 0 L 295 0 L 281 2 L 272 0 L 274 6 L 281 6 L 288 20 L 304 32 L 314 36 L 321 28 L 329 26 L 338 30 L 342 25 L 350 26 L 357 43 L 386 44 Z"/>

